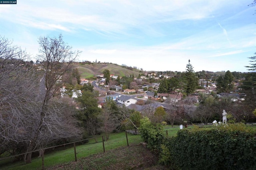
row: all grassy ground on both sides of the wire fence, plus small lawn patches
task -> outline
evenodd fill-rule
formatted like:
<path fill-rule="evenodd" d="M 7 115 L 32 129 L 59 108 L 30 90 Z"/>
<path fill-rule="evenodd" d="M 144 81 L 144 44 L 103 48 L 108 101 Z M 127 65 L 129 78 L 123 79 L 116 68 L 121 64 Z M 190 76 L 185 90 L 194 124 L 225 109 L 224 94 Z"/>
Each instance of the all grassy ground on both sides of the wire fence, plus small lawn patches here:
<path fill-rule="evenodd" d="M 192 125 L 188 128 L 193 128 Z M 164 133 L 168 132 L 168 136 L 174 136 L 180 130 L 179 125 L 164 126 Z M 103 153 L 102 137 L 95 140 L 89 139 L 88 143 L 78 145 L 76 143 L 76 157 L 78 162 L 74 162 L 74 147 L 65 150 L 52 150 L 44 155 L 44 167 L 49 169 L 118 169 L 119 165 L 123 169 L 138 169 L 140 166 L 143 168 L 148 165 L 156 165 L 154 156 L 149 150 L 140 144 L 142 141 L 140 135 L 132 135 L 127 133 L 129 147 L 126 143 L 125 133 L 110 134 L 108 141 L 104 141 L 105 153 Z M 129 155 L 131 157 L 129 157 Z M 144 160 L 142 160 L 144 159 Z M 147 162 L 150 160 L 150 162 Z M 4 160 L 6 162 L 6 160 Z M 120 165 L 122 162 L 122 165 Z M 146 164 L 144 164 L 146 162 Z M 42 158 L 32 158 L 30 164 L 25 164 L 23 161 L 14 162 L 1 167 L 3 170 L 39 170 L 42 169 Z M 2 163 L 3 164 L 3 163 Z M 111 166 L 113 166 L 111 168 Z M 165 169 L 160 166 L 156 169 Z"/>

